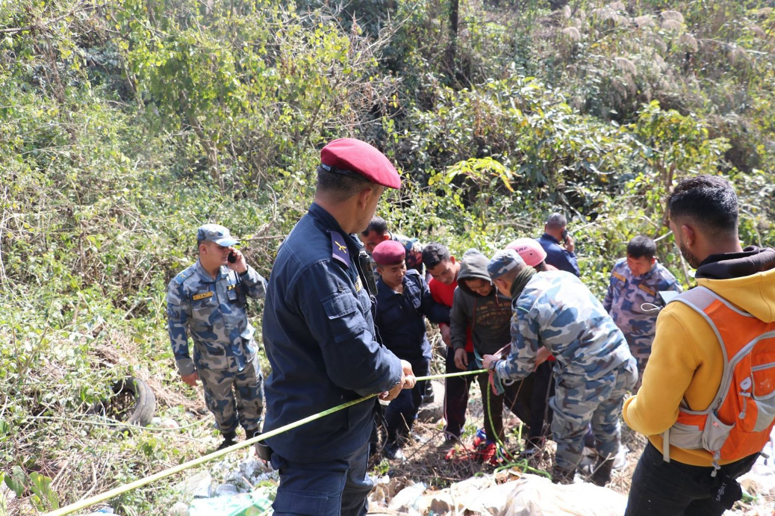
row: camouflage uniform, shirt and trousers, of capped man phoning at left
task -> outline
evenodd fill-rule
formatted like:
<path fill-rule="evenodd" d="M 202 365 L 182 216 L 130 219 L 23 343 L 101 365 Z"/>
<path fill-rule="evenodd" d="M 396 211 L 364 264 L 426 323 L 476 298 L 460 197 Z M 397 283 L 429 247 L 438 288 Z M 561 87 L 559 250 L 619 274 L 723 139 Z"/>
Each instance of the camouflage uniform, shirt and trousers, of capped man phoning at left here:
<path fill-rule="evenodd" d="M 198 260 L 167 287 L 177 371 L 181 375 L 198 372 L 207 408 L 224 434 L 236 430 L 239 418 L 246 435 L 252 436 L 261 421 L 263 385 L 245 295 L 260 298 L 265 293 L 266 281 L 250 265 L 241 275 L 222 266 L 212 279 Z M 189 336 L 194 341 L 193 361 Z"/>

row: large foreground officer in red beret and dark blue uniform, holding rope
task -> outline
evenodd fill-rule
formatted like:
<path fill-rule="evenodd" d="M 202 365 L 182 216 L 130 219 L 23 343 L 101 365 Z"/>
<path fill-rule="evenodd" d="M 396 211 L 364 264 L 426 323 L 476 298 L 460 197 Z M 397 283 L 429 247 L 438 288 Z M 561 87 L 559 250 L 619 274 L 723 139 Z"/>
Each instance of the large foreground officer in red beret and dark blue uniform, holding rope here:
<path fill-rule="evenodd" d="M 351 236 L 401 179 L 353 138 L 330 142 L 320 161 L 315 202 L 281 245 L 267 287 L 264 432 L 363 395 L 390 400 L 415 384 L 411 365 L 375 339 L 369 261 Z M 367 400 L 267 439 L 280 472 L 274 514 L 366 514 L 375 410 Z"/>

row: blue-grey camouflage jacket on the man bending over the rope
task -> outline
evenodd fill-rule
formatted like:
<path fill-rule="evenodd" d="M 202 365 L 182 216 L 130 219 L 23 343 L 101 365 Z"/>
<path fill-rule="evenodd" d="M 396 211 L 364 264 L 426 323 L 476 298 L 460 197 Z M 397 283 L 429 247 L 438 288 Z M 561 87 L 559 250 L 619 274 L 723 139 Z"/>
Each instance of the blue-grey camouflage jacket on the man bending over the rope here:
<path fill-rule="evenodd" d="M 505 380 L 525 378 L 539 347 L 556 358 L 554 372 L 567 387 L 608 374 L 632 359 L 611 316 L 576 276 L 539 272 L 512 299 L 512 351 L 495 371 Z"/>

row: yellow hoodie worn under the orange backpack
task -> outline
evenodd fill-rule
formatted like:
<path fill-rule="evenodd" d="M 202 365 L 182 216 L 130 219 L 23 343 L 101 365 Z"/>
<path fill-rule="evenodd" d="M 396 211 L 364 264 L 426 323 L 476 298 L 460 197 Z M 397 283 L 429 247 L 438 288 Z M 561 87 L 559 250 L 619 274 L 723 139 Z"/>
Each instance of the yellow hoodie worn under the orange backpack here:
<path fill-rule="evenodd" d="M 764 253 L 768 261 L 775 261 L 775 251 L 763 249 L 761 258 Z M 701 267 L 697 282 L 769 323 L 775 321 L 775 263 L 769 267 L 764 272 L 732 279 L 701 278 Z M 625 402 L 622 412 L 625 422 L 663 451 L 662 433 L 676 422 L 681 400 L 691 410 L 708 408 L 718 391 L 723 363 L 721 345 L 702 316 L 684 303 L 670 303 L 656 320 L 656 335 L 643 372 L 642 387 Z M 693 466 L 712 463 L 711 454 L 704 449 L 680 449 L 672 445 L 670 459 Z M 722 464 L 729 462 L 734 460 L 721 461 Z"/>

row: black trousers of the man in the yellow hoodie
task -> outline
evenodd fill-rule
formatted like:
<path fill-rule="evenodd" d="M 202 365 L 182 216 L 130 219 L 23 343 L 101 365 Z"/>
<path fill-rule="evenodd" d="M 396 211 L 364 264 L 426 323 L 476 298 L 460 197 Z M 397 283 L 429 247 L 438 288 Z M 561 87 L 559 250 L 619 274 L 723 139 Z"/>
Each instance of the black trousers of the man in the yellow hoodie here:
<path fill-rule="evenodd" d="M 722 485 L 723 473 L 737 478 L 751 469 L 758 453 L 721 467 L 711 477 L 711 466 L 690 466 L 677 460 L 666 463 L 660 450 L 649 443 L 640 456 L 625 516 L 721 516 L 724 507 L 711 492 Z"/>

